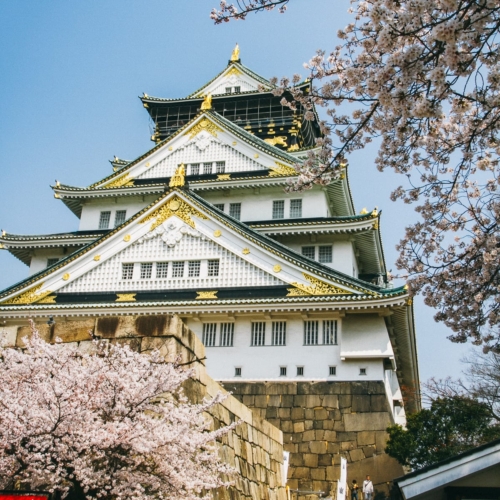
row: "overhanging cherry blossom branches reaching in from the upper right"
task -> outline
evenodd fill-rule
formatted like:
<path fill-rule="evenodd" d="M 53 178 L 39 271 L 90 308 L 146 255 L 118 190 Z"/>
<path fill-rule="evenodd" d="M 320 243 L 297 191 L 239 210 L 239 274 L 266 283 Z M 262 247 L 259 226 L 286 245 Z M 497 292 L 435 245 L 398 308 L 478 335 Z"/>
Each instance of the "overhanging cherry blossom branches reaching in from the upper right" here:
<path fill-rule="evenodd" d="M 293 2 L 292 2 L 293 3 Z M 221 2 L 216 23 L 288 0 Z M 324 106 L 325 137 L 297 165 L 291 190 L 328 183 L 350 153 L 375 141 L 379 170 L 407 177 L 394 200 L 415 204 L 397 265 L 410 292 L 421 292 L 451 327 L 454 342 L 500 352 L 500 2 L 498 0 L 352 0 L 353 23 L 333 50 L 305 64 L 302 92 L 293 78 L 274 93 L 315 119 Z M 311 3 L 311 10 L 314 7 Z M 288 95 L 288 94 L 287 94 Z"/>

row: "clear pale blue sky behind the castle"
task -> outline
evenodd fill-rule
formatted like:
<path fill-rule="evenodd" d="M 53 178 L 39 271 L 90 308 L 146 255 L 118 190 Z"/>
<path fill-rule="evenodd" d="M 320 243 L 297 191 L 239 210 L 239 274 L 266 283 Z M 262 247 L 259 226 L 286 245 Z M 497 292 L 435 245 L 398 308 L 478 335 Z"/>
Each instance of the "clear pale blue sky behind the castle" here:
<path fill-rule="evenodd" d="M 310 7 L 314 4 L 314 10 Z M 336 44 L 349 3 L 295 0 L 288 12 L 214 26 L 216 0 L 16 0 L 0 2 L 0 227 L 16 234 L 75 230 L 76 217 L 50 184 L 86 186 L 111 173 L 114 155 L 152 146 L 137 96 L 182 97 L 227 64 L 236 42 L 243 64 L 265 76 L 306 75 L 302 64 Z M 383 210 L 389 267 L 413 209 L 389 200 L 404 179 L 379 173 L 374 151 L 350 159 L 357 210 Z M 0 252 L 0 288 L 27 276 Z M 415 301 L 421 380 L 458 376 L 466 345 L 446 339 L 434 311 Z"/>

